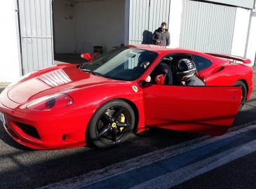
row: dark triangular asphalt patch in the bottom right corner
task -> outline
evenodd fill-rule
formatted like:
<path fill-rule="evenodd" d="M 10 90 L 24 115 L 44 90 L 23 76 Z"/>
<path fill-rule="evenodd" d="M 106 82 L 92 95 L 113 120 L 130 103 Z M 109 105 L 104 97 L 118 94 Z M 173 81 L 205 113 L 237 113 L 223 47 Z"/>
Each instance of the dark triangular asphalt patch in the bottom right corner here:
<path fill-rule="evenodd" d="M 173 189 L 191 188 L 256 188 L 256 152 L 231 161 L 210 172 L 185 181 Z"/>

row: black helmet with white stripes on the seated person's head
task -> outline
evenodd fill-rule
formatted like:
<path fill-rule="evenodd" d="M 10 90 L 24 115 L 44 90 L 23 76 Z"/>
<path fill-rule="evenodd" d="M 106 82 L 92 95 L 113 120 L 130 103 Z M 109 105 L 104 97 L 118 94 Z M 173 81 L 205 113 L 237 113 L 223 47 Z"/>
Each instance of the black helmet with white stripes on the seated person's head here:
<path fill-rule="evenodd" d="M 177 64 L 177 76 L 183 77 L 196 73 L 196 66 L 190 59 L 181 59 Z"/>

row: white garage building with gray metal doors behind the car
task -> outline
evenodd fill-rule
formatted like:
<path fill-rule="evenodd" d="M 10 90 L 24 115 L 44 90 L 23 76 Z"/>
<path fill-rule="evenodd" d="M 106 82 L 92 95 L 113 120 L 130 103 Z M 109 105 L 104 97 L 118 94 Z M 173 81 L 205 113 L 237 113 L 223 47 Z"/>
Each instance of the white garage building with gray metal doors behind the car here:
<path fill-rule="evenodd" d="M 255 64 L 255 0 L 11 0 L 0 6 L 0 83 L 53 65 L 58 53 L 151 43 L 161 22 L 170 48 L 240 55 Z"/>

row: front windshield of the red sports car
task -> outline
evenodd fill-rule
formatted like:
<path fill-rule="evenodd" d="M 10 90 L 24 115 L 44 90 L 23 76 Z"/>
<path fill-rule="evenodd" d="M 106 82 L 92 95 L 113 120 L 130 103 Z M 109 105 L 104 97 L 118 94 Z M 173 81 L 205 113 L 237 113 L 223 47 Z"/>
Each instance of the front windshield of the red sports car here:
<path fill-rule="evenodd" d="M 142 76 L 156 57 L 156 52 L 120 47 L 82 64 L 80 69 L 106 78 L 135 80 Z"/>

